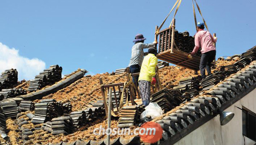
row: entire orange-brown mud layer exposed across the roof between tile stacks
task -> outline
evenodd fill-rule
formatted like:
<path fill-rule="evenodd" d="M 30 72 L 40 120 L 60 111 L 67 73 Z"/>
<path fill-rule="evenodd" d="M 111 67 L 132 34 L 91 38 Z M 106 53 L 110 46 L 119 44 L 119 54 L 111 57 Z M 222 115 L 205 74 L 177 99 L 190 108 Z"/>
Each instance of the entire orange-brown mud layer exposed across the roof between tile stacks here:
<path fill-rule="evenodd" d="M 233 64 L 235 61 L 218 61 L 216 70 L 219 70 L 220 66 L 230 65 Z M 75 73 L 75 72 L 74 72 Z M 199 71 L 198 71 L 199 73 Z M 199 73 L 200 75 L 200 73 Z M 70 75 L 69 75 L 70 76 Z M 181 78 L 186 78 L 190 76 L 198 76 L 195 75 L 193 70 L 186 69 L 184 67 L 177 67 L 177 66 L 169 66 L 164 67 L 163 69 L 159 70 L 159 77 L 162 82 L 163 87 L 172 88 L 173 86 L 177 86 L 179 80 Z M 63 79 L 67 78 L 68 76 L 64 77 Z M 96 100 L 102 100 L 102 92 L 100 89 L 99 78 L 102 78 L 104 84 L 113 84 L 113 83 L 121 83 L 125 82 L 126 75 L 111 75 L 109 73 L 104 74 L 96 74 L 93 76 L 87 75 L 84 78 L 79 79 L 78 81 L 74 82 L 70 86 L 67 86 L 64 89 L 59 90 L 53 94 L 45 96 L 43 99 L 55 99 L 57 101 L 62 101 L 63 103 L 70 102 L 72 104 L 72 111 L 79 111 L 86 109 L 90 106 L 90 102 L 96 102 Z M 23 83 L 17 87 L 26 88 L 28 84 Z M 35 100 L 36 103 L 40 102 L 41 100 Z M 171 112 L 175 111 L 173 109 Z M 22 117 L 26 117 L 25 114 L 29 112 L 23 112 Z M 170 112 L 168 112 L 169 114 Z M 158 118 L 159 119 L 159 118 Z M 15 124 L 15 120 L 8 119 L 6 120 L 7 129 L 9 129 L 8 136 L 10 137 L 9 144 L 10 145 L 21 145 L 23 141 L 18 139 L 20 137 L 20 133 L 18 131 L 18 126 Z M 32 123 L 23 125 L 23 128 L 38 128 L 41 127 L 40 125 L 33 125 Z M 102 128 L 107 128 L 107 121 L 106 118 L 98 119 L 93 123 L 87 124 L 78 129 L 73 134 L 64 135 L 52 135 L 44 130 L 35 130 L 34 135 L 30 136 L 30 140 L 25 143 L 25 145 L 35 145 L 36 143 L 47 144 L 51 143 L 58 143 L 61 141 L 64 142 L 74 142 L 77 139 L 81 139 L 87 141 L 91 140 L 99 140 L 105 139 L 106 135 L 93 135 L 93 129 L 99 128 L 102 125 Z M 111 128 L 117 128 L 117 120 L 111 121 Z M 133 131 L 137 126 L 131 126 L 130 129 Z M 111 139 L 116 137 L 127 137 L 130 138 L 132 136 L 111 136 Z M 0 137 L 0 141 L 4 142 L 3 139 Z"/>

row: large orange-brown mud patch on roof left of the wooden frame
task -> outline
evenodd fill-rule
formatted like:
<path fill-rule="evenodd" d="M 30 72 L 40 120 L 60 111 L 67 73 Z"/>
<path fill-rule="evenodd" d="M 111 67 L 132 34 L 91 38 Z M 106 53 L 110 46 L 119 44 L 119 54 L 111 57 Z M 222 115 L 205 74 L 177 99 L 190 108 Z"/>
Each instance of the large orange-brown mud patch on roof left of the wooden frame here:
<path fill-rule="evenodd" d="M 72 111 L 86 109 L 90 106 L 89 102 L 103 99 L 99 78 L 102 78 L 104 84 L 124 83 L 126 81 L 125 74 L 110 75 L 109 73 L 104 73 L 87 76 L 54 94 L 47 95 L 43 99 L 55 99 L 63 103 L 70 102 Z M 35 102 L 40 102 L 40 100 L 35 100 Z"/>

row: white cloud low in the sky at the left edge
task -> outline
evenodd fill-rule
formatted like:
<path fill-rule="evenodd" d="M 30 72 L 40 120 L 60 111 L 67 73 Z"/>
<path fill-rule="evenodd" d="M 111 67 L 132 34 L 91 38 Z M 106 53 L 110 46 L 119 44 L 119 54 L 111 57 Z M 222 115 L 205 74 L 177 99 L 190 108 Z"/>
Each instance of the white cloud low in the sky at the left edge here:
<path fill-rule="evenodd" d="M 45 62 L 19 55 L 19 50 L 9 48 L 0 42 L 0 72 L 13 68 L 18 71 L 18 80 L 31 80 L 45 69 Z"/>

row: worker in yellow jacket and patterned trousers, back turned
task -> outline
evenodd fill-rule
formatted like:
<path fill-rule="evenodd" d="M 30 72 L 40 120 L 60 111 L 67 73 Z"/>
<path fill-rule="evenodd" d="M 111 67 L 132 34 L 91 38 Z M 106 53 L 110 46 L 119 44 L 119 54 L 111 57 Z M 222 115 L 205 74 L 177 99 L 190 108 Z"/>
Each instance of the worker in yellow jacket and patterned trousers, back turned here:
<path fill-rule="evenodd" d="M 150 86 L 156 84 L 156 66 L 157 66 L 157 50 L 155 48 L 148 49 L 148 55 L 144 57 L 139 76 L 139 89 L 142 103 L 148 106 L 150 101 Z"/>

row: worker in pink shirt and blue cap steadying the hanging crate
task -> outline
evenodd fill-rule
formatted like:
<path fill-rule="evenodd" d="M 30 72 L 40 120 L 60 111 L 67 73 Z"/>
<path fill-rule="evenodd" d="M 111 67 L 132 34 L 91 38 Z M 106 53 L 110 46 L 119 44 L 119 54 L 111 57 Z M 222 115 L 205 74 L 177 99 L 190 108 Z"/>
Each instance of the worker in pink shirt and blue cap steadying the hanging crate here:
<path fill-rule="evenodd" d="M 207 70 L 208 75 L 211 75 L 210 64 L 215 59 L 216 48 L 214 43 L 217 42 L 217 37 L 212 37 L 209 31 L 204 30 L 204 23 L 198 22 L 196 27 L 197 33 L 195 34 L 195 48 L 188 58 L 192 59 L 193 55 L 198 52 L 201 47 L 201 60 L 200 60 L 200 73 L 202 78 L 205 78 L 205 69 Z"/>

